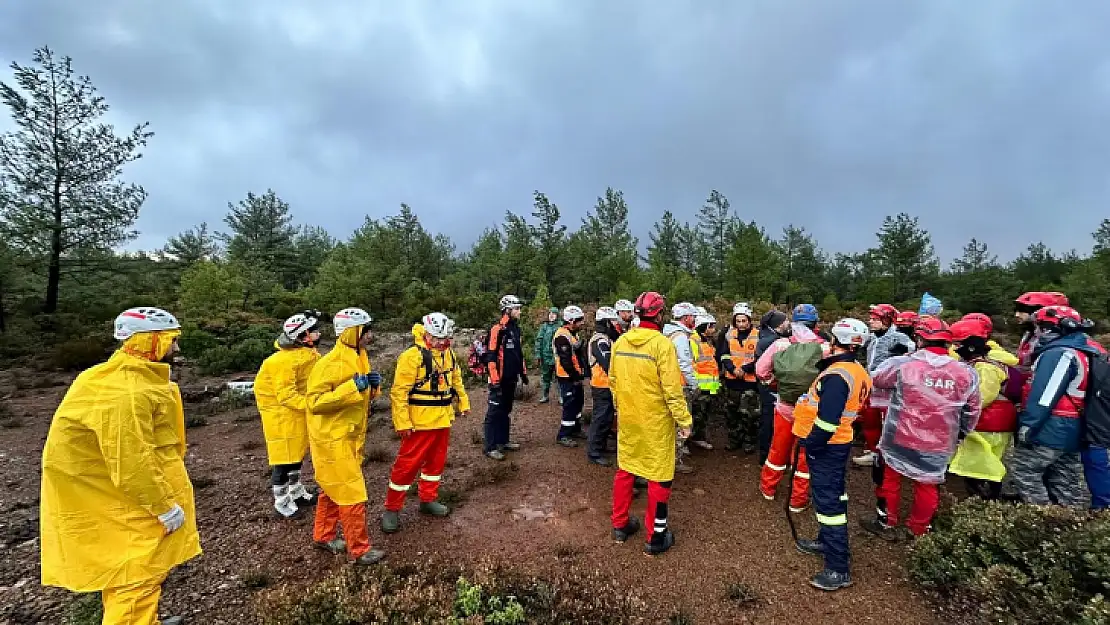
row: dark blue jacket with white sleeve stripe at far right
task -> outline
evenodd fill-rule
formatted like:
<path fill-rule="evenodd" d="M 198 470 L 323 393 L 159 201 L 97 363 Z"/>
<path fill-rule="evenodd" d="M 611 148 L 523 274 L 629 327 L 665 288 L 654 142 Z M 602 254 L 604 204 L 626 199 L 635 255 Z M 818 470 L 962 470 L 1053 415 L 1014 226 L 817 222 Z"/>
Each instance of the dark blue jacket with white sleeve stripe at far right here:
<path fill-rule="evenodd" d="M 1082 332 L 1067 334 L 1037 349 L 1032 383 L 1026 405 L 1018 415 L 1020 442 L 1064 452 L 1079 451 L 1081 420 L 1052 414 L 1072 381 L 1087 373 L 1080 370 L 1082 363 L 1074 357 L 1077 351 L 1089 356 L 1098 353 Z M 1077 409 L 1082 407 L 1081 402 Z"/>

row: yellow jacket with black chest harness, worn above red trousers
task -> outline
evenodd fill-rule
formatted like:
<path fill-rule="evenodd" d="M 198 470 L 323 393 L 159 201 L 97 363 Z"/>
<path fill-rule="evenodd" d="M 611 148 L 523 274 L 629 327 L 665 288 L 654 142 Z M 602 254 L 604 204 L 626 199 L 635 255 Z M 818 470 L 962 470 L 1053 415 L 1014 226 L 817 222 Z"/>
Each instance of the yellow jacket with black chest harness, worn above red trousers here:
<path fill-rule="evenodd" d="M 413 341 L 411 347 L 401 352 L 393 374 L 390 390 L 393 426 L 397 432 L 451 427 L 456 403 L 458 412 L 471 410 L 458 360 L 450 349 L 428 350 L 423 324 L 413 325 Z M 432 364 L 431 372 L 425 367 L 425 352 Z"/>

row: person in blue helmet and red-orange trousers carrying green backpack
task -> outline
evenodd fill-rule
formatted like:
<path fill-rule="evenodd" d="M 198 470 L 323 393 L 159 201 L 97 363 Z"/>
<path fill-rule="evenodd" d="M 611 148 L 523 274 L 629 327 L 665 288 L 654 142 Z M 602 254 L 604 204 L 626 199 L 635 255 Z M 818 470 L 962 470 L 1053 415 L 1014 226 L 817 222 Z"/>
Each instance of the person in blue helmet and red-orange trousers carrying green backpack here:
<path fill-rule="evenodd" d="M 806 323 L 784 321 L 778 326 L 778 339 L 756 361 L 756 376 L 767 384 L 775 382 L 775 354 L 785 351 L 794 343 L 821 343 L 825 356 L 829 346 Z M 775 434 L 771 438 L 770 452 L 759 473 L 759 492 L 765 500 L 775 498 L 778 483 L 783 481 L 787 467 L 798 457 L 794 471 L 794 483 L 790 486 L 790 512 L 799 513 L 809 505 L 809 468 L 805 454 L 795 454 L 797 436 L 794 435 L 794 404 L 788 404 L 776 397 L 775 401 Z"/>

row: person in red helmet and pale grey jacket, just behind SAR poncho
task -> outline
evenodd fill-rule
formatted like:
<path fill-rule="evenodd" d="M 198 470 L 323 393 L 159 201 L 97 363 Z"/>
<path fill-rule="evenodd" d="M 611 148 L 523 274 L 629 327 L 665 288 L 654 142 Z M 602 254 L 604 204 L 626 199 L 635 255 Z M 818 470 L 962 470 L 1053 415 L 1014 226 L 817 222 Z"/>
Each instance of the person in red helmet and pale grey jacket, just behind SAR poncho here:
<path fill-rule="evenodd" d="M 895 326 L 896 319 L 898 319 L 898 309 L 890 304 L 871 306 L 868 320 L 871 337 L 864 350 L 867 355 L 866 366 L 869 373 L 877 370 L 887 359 L 906 355 L 916 349 L 912 339 L 902 334 Z M 879 444 L 879 436 L 882 434 L 882 415 L 886 414 L 888 405 L 890 405 L 890 396 L 885 391 L 877 391 L 871 393 L 870 405 L 860 412 L 859 430 L 864 435 L 865 451 L 862 455 L 851 458 L 851 462 L 857 466 L 875 466 L 877 462 L 875 446 Z"/>

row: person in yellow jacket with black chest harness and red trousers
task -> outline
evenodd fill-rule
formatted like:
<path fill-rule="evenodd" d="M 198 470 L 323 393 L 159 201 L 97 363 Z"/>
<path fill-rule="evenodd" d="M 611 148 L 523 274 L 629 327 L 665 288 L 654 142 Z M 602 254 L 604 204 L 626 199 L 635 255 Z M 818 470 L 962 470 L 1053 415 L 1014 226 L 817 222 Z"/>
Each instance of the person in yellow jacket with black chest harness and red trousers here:
<path fill-rule="evenodd" d="M 385 494 L 382 532 L 386 534 L 401 528 L 405 494 L 417 476 L 421 514 L 438 517 L 451 514 L 451 508 L 436 501 L 440 480 L 447 462 L 456 405 L 463 416 L 471 413 L 463 374 L 451 349 L 454 336 L 455 322 L 447 315 L 426 314 L 413 325 L 413 345 L 397 357 L 390 404 L 401 448 Z"/>

